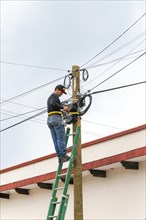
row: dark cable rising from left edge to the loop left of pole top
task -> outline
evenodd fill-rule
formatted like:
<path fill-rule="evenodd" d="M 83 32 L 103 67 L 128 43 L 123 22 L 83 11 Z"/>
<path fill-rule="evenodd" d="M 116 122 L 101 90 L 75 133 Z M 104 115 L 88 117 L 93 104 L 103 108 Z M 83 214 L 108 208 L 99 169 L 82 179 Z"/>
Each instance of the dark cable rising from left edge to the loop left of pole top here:
<path fill-rule="evenodd" d="M 63 79 L 64 77 L 65 77 L 65 76 L 62 76 L 62 77 L 60 77 L 60 78 L 58 78 L 58 79 L 55 79 L 55 80 L 53 80 L 53 81 L 51 81 L 51 82 L 48 82 L 48 83 L 45 83 L 45 84 L 43 84 L 43 85 L 41 85 L 41 86 L 38 86 L 38 87 L 36 87 L 36 88 L 34 88 L 34 89 L 31 89 L 31 90 L 28 90 L 28 91 L 26 91 L 26 92 L 23 92 L 23 93 L 21 93 L 21 94 L 19 94 L 19 95 L 13 96 L 13 97 L 11 97 L 11 98 L 9 98 L 9 99 L 7 99 L 7 100 L 1 102 L 0 104 L 4 104 L 4 103 L 9 102 L 9 101 L 11 101 L 11 100 L 17 99 L 17 98 L 19 98 L 19 97 L 21 97 L 21 96 L 27 95 L 27 94 L 29 94 L 29 93 L 31 93 L 31 92 L 34 92 L 34 91 L 36 91 L 36 90 L 38 90 L 38 89 L 40 89 L 40 88 L 45 87 L 45 86 L 47 86 L 47 85 L 49 85 L 49 84 L 51 84 L 51 83 L 54 83 L 54 82 L 56 82 L 56 81 L 58 81 L 58 80 L 60 80 L 60 79 Z"/>

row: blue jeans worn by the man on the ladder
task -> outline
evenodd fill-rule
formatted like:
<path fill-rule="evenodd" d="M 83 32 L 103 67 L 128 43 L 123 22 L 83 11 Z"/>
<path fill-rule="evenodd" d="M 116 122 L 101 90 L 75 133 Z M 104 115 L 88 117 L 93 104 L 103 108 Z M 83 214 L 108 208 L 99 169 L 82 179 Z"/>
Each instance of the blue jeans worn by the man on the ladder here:
<path fill-rule="evenodd" d="M 47 124 L 51 131 L 57 156 L 60 159 L 67 151 L 65 143 L 65 127 L 62 124 L 62 117 L 60 115 L 48 116 Z"/>

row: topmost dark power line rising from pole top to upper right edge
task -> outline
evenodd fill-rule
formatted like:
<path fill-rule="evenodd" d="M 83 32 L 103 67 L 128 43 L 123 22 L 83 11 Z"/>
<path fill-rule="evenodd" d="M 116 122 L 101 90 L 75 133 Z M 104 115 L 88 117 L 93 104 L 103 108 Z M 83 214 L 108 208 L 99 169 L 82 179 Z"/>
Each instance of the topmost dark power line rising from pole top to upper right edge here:
<path fill-rule="evenodd" d="M 121 35 L 119 35 L 114 41 L 112 41 L 108 46 L 106 46 L 103 50 L 101 50 L 98 54 L 96 54 L 94 57 L 92 57 L 90 60 L 88 60 L 86 63 L 82 64 L 80 67 L 85 66 L 87 63 L 95 59 L 97 56 L 99 56 L 101 53 L 103 53 L 106 49 L 108 49 L 112 44 L 114 44 L 117 40 L 119 40 L 126 32 L 128 32 L 136 23 L 138 23 L 146 13 L 144 13 L 138 20 L 136 20 L 129 28 L 127 28 Z"/>

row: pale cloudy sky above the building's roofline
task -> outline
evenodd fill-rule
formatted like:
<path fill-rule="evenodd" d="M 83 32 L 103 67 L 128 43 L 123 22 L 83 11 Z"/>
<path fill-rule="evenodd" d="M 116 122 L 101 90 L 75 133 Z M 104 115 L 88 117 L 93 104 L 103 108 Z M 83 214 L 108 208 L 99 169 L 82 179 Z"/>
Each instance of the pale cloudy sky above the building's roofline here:
<path fill-rule="evenodd" d="M 1 1 L 1 130 L 38 111 L 20 114 L 46 108 L 73 65 L 89 73 L 84 82 L 81 72 L 82 94 L 145 81 L 146 17 L 131 27 L 145 6 L 143 0 Z M 71 87 L 67 93 L 61 101 Z M 146 123 L 145 83 L 92 98 L 81 119 L 82 143 Z M 55 152 L 46 121 L 44 113 L 1 131 L 1 169 Z"/>

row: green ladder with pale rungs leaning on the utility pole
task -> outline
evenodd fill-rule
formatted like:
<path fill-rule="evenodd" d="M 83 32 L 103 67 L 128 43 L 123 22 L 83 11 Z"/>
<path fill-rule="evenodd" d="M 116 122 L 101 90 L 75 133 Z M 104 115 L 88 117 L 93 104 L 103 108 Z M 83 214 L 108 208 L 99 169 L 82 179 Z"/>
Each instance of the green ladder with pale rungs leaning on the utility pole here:
<path fill-rule="evenodd" d="M 67 128 L 67 130 L 66 130 L 66 145 L 68 142 L 68 138 L 70 136 L 69 133 L 70 133 L 70 128 Z M 65 173 L 61 174 L 63 164 L 61 164 L 61 163 L 58 164 L 56 179 L 55 179 L 55 183 L 54 183 L 53 190 L 52 190 L 52 196 L 51 196 L 50 206 L 49 206 L 46 220 L 53 220 L 53 219 L 64 220 L 64 218 L 65 218 L 65 213 L 66 213 L 68 200 L 69 200 L 69 195 L 67 194 L 67 190 L 68 190 L 68 185 L 69 185 L 69 181 L 70 181 L 70 177 L 71 177 L 71 171 L 73 168 L 73 163 L 74 163 L 74 159 L 75 159 L 75 155 L 76 155 L 76 149 L 78 146 L 78 140 L 80 137 L 79 135 L 80 135 L 80 126 L 77 126 L 75 136 L 74 136 L 74 143 L 72 146 L 72 152 L 71 152 L 69 165 L 68 165 L 68 169 L 67 169 L 66 174 Z M 64 187 L 58 187 L 59 180 L 60 180 L 61 176 L 66 176 Z M 56 197 L 58 190 L 63 190 L 60 201 L 58 201 L 58 198 Z M 59 205 L 58 214 L 54 215 L 57 204 Z"/>

